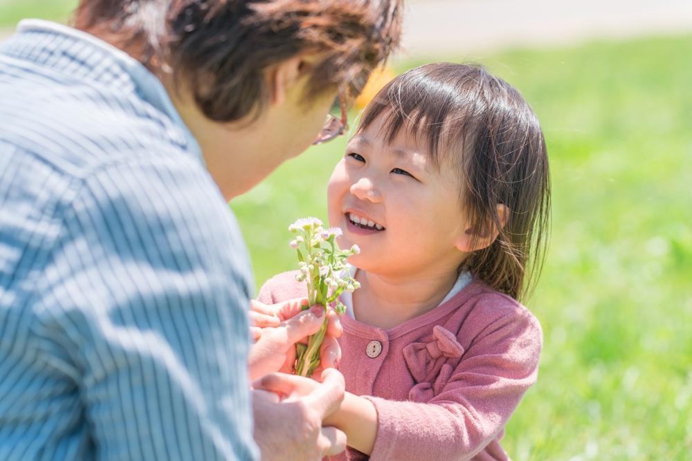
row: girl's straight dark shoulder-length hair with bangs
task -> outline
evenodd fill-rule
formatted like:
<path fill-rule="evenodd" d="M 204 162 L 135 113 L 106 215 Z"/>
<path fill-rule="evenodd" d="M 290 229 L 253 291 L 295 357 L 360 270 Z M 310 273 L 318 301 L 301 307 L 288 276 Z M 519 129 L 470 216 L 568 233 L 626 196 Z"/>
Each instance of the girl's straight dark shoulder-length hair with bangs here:
<path fill-rule="evenodd" d="M 385 117 L 392 142 L 406 129 L 428 143 L 435 169 L 458 169 L 460 200 L 476 238 L 498 238 L 466 268 L 521 300 L 534 288 L 549 232 L 550 178 L 538 118 L 515 88 L 481 66 L 428 64 L 387 84 L 358 131 Z M 509 211 L 502 226 L 498 204 Z"/>

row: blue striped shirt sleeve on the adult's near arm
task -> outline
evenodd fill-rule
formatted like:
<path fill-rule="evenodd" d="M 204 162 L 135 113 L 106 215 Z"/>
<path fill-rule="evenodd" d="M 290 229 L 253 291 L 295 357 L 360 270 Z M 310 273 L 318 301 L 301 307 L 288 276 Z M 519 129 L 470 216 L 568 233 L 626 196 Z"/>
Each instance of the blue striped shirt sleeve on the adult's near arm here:
<path fill-rule="evenodd" d="M 251 270 L 204 169 L 102 167 L 64 215 L 37 334 L 68 352 L 103 460 L 252 460 Z"/>

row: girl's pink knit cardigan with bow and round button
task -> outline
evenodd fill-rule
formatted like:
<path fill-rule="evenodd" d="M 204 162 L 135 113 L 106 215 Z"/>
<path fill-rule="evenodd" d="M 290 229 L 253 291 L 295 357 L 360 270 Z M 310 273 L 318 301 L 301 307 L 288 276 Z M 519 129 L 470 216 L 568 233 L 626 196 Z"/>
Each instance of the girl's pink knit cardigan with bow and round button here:
<path fill-rule="evenodd" d="M 304 297 L 295 272 L 264 284 L 258 299 Z M 504 425 L 536 382 L 536 317 L 474 279 L 437 308 L 390 330 L 344 316 L 339 370 L 346 390 L 374 404 L 371 461 L 508 460 Z M 347 449 L 336 460 L 367 460 Z"/>

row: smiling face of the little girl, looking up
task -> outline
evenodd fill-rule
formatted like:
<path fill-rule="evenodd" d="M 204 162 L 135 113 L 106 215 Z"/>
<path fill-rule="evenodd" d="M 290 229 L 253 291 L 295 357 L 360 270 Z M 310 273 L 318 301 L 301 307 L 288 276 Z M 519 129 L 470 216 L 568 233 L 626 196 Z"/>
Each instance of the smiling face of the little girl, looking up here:
<path fill-rule="evenodd" d="M 468 239 L 459 180 L 437 172 L 428 148 L 406 129 L 386 142 L 384 117 L 356 135 L 327 189 L 329 224 L 344 231 L 341 247 L 361 253 L 349 262 L 388 276 L 446 274 L 463 261 Z"/>

